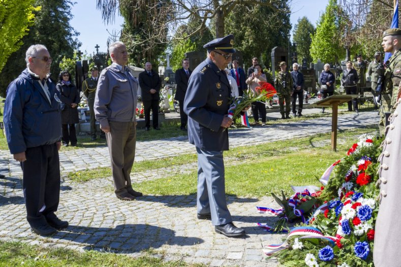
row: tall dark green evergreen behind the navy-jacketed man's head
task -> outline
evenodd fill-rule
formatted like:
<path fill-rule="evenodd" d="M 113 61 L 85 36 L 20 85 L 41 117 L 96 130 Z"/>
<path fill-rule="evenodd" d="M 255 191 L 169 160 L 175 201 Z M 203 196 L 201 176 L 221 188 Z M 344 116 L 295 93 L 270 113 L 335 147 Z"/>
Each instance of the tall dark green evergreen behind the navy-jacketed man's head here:
<path fill-rule="evenodd" d="M 60 73 L 59 62 L 64 56 L 72 57 L 80 43 L 79 33 L 70 25 L 72 18 L 70 0 L 36 0 L 34 7 L 35 22 L 29 27 L 28 34 L 22 38 L 23 45 L 11 54 L 0 74 L 0 94 L 5 96 L 8 84 L 26 68 L 25 52 L 29 46 L 42 44 L 49 50 L 53 62 L 51 78 L 57 80 Z"/>

